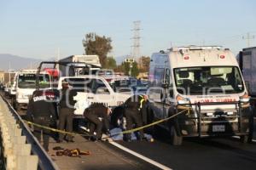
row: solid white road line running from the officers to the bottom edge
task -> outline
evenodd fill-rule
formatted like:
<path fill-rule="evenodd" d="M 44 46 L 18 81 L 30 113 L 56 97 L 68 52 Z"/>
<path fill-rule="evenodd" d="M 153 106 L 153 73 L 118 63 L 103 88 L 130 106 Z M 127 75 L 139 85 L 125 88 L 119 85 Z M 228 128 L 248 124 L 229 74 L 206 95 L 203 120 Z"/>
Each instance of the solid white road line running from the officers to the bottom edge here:
<path fill-rule="evenodd" d="M 149 159 L 148 157 L 143 156 L 143 155 L 141 155 L 141 154 L 139 154 L 139 153 L 137 153 L 137 152 L 135 152 L 135 151 L 133 151 L 133 150 L 130 150 L 130 149 L 128 149 L 128 148 L 125 148 L 125 147 L 122 146 L 121 144 L 118 144 L 118 143 L 113 142 L 113 141 L 109 142 L 109 144 L 113 144 L 114 146 L 118 147 L 118 148 L 121 149 L 121 150 L 124 150 L 124 151 L 130 153 L 131 155 L 137 156 L 138 158 L 142 159 L 143 161 L 147 161 L 148 163 L 154 165 L 155 167 L 160 167 L 161 169 L 166 169 L 166 170 L 172 170 L 172 168 L 166 167 L 165 165 L 162 165 L 162 164 L 160 164 L 160 163 L 157 162 L 157 161 L 154 161 L 154 160 L 152 160 L 152 159 Z"/>

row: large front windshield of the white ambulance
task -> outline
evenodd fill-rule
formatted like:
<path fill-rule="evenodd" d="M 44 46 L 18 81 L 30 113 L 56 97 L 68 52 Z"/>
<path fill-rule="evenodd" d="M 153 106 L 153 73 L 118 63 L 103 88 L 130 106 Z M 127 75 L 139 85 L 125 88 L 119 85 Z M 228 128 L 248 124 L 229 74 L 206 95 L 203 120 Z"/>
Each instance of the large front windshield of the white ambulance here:
<path fill-rule="evenodd" d="M 179 94 L 237 94 L 244 91 L 236 66 L 202 66 L 174 69 Z"/>

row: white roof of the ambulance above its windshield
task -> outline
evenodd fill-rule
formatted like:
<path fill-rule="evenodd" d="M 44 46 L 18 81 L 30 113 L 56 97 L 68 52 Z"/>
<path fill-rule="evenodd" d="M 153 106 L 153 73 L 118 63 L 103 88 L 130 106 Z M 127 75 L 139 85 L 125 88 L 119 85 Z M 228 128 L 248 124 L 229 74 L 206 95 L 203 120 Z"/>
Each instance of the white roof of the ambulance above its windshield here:
<path fill-rule="evenodd" d="M 154 53 L 154 64 L 164 67 L 169 60 L 172 68 L 194 66 L 236 65 L 236 57 L 220 46 L 187 46 L 172 48 L 169 52 Z M 158 61 L 157 61 L 158 60 Z"/>

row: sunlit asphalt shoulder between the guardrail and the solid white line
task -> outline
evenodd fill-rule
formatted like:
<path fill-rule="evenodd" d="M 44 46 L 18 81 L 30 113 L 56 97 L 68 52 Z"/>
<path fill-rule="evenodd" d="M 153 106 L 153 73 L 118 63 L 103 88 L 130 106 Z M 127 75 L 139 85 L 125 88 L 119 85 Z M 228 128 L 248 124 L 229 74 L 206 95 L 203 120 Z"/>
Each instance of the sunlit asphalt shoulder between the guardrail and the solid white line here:
<path fill-rule="evenodd" d="M 10 99 L 9 99 L 10 101 Z M 21 118 L 26 119 L 26 111 L 19 112 Z M 147 169 L 159 169 L 146 161 L 137 159 L 135 156 L 131 156 L 125 153 L 123 150 L 118 150 L 113 145 L 107 142 L 91 142 L 82 136 L 75 136 L 74 143 L 56 143 L 55 139 L 49 140 L 49 156 L 55 161 L 56 165 L 62 170 L 96 170 L 96 169 L 112 169 L 112 170 L 147 170 Z M 63 149 L 79 149 L 90 151 L 90 156 L 56 156 L 56 151 L 53 150 L 55 146 Z"/>

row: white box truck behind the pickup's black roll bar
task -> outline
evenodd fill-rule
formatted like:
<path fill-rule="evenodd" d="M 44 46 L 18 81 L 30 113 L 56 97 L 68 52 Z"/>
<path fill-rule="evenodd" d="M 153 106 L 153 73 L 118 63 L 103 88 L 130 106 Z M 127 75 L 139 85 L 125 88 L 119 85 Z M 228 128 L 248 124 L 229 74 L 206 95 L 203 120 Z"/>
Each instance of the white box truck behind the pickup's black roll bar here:
<path fill-rule="evenodd" d="M 60 59 L 59 62 L 83 62 L 86 64 L 81 68 L 75 68 L 71 65 L 59 65 L 61 77 L 79 76 L 79 75 L 95 75 L 96 71 L 102 68 L 98 55 L 71 55 L 67 58 Z"/>

